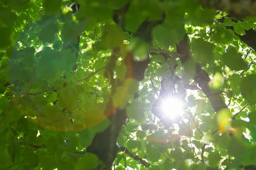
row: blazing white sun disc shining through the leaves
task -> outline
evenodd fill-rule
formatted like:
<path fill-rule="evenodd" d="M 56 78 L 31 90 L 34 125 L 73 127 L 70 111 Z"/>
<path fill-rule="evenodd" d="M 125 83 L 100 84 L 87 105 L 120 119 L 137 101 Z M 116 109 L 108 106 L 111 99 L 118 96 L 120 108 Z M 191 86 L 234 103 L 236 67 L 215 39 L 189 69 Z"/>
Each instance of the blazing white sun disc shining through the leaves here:
<path fill-rule="evenodd" d="M 162 110 L 165 115 L 167 115 L 170 119 L 174 119 L 178 115 L 182 115 L 183 105 L 179 99 L 169 98 L 163 101 Z"/>

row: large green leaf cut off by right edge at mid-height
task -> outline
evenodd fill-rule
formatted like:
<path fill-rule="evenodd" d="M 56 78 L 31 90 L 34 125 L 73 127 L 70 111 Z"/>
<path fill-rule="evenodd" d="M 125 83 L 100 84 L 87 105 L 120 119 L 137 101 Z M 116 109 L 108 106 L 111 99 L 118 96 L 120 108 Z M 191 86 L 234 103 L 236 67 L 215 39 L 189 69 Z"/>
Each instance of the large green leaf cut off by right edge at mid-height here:
<path fill-rule="evenodd" d="M 241 95 L 251 104 L 256 104 L 256 74 L 246 75 L 242 78 L 240 91 Z"/>

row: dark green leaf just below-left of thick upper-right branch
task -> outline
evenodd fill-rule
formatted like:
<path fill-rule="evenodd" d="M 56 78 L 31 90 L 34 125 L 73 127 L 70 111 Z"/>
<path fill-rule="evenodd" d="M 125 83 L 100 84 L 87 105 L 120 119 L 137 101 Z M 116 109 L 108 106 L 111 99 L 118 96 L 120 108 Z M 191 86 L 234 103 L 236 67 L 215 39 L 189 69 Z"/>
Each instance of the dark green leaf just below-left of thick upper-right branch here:
<path fill-rule="evenodd" d="M 222 57 L 224 64 L 231 70 L 245 70 L 248 66 L 248 63 L 241 58 L 242 54 L 237 52 L 236 48 L 231 45 L 227 48 L 227 52 L 224 53 Z"/>

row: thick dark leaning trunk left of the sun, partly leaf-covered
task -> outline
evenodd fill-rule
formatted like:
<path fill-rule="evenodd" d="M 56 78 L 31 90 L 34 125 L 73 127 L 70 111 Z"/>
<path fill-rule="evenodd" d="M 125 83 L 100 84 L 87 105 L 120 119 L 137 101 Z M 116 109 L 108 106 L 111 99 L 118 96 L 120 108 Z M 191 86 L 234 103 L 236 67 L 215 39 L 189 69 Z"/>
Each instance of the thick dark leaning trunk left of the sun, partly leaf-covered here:
<path fill-rule="evenodd" d="M 137 36 L 145 42 L 151 44 L 151 30 L 162 22 L 163 19 L 154 22 L 145 20 L 134 33 L 134 36 Z M 150 51 L 148 51 L 148 55 L 149 52 Z M 126 78 L 133 78 L 137 81 L 141 81 L 144 79 L 145 70 L 148 68 L 150 59 L 148 58 L 144 61 L 135 62 L 132 55 L 132 51 L 128 51 L 125 57 L 125 61 L 128 61 L 126 64 L 128 70 Z M 120 82 L 119 85 L 122 85 L 122 83 L 123 82 Z M 115 85 L 116 84 L 111 84 L 112 92 Z M 112 115 L 108 118 L 111 125 L 109 125 L 109 127 L 103 132 L 97 133 L 93 138 L 92 144 L 87 148 L 87 152 L 94 153 L 96 156 L 98 156 L 99 159 L 103 161 L 107 169 L 111 169 L 113 161 L 116 158 L 116 154 L 119 151 L 119 147 L 116 145 L 116 139 L 127 119 L 125 108 L 122 110 L 119 108 L 114 108 L 111 99 L 106 106 L 105 115 L 109 115 L 109 113 L 112 113 Z"/>

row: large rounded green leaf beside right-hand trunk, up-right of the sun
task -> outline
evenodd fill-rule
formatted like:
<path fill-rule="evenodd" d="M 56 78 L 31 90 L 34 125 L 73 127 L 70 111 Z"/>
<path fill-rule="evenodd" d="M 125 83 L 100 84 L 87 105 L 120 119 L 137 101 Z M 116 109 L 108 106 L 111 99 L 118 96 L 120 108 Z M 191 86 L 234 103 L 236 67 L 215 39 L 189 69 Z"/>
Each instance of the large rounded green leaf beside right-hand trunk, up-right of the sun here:
<path fill-rule="evenodd" d="M 191 50 L 196 61 L 201 62 L 203 65 L 209 64 L 214 61 L 213 58 L 213 45 L 202 38 L 192 41 Z"/>

